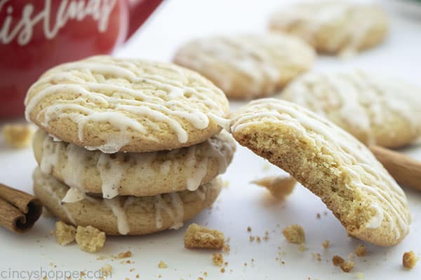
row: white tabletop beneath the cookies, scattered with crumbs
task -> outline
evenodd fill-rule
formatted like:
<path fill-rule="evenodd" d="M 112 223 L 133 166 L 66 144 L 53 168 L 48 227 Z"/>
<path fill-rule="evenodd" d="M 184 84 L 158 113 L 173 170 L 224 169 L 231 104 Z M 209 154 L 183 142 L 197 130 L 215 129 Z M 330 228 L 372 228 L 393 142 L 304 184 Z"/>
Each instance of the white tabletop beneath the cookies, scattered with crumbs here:
<path fill-rule="evenodd" d="M 234 34 L 237 32 L 265 31 L 267 16 L 287 1 L 245 0 L 172 0 L 166 2 L 126 45 L 116 51 L 122 57 L 145 57 L 170 60 L 183 41 L 209 34 Z M 402 76 L 421 85 L 421 18 L 391 9 L 392 4 L 382 1 L 392 16 L 392 30 L 381 46 L 363 52 L 352 59 L 320 57 L 316 69 L 359 67 L 376 69 L 395 76 Z M 236 102 L 233 107 L 241 105 Z M 413 146 L 406 153 L 421 160 L 421 147 Z M 0 144 L 1 181 L 10 186 L 32 192 L 32 171 L 36 163 L 32 151 L 27 148 L 15 151 Z M 318 197 L 302 186 L 297 186 L 285 202 L 278 202 L 263 188 L 250 181 L 281 171 L 258 158 L 246 148 L 238 148 L 232 165 L 223 175 L 229 186 L 222 190 L 213 209 L 194 218 L 195 223 L 222 230 L 230 237 L 231 251 L 224 253 L 229 265 L 225 273 L 212 264 L 213 251 L 192 251 L 183 246 L 185 228 L 169 230 L 145 237 L 108 237 L 100 253 L 79 251 L 76 244 L 62 247 L 55 244 L 50 235 L 53 218 L 42 217 L 34 228 L 24 235 L 15 235 L 0 228 L 0 279 L 11 278 L 6 273 L 17 270 L 39 272 L 40 269 L 58 272 L 95 271 L 105 264 L 114 267 L 112 279 L 421 279 L 421 263 L 415 269 L 402 268 L 403 252 L 413 250 L 420 256 L 421 242 L 421 193 L 405 189 L 413 213 L 410 235 L 392 248 L 372 246 L 366 242 L 347 237 L 342 225 L 326 209 Z M 326 216 L 323 213 L 326 211 Z M 321 218 L 316 218 L 320 213 Z M 299 223 L 305 229 L 308 248 L 298 251 L 297 245 L 288 244 L 281 235 L 287 225 Z M 252 232 L 247 232 L 247 227 Z M 250 242 L 250 235 L 264 236 L 269 240 Z M 322 242 L 330 240 L 330 248 L 323 249 Z M 358 244 L 368 248 L 368 255 L 355 258 L 355 267 L 346 274 L 333 267 L 333 255 L 347 258 Z M 280 250 L 279 247 L 280 246 Z M 132 264 L 120 264 L 119 260 L 97 260 L 98 256 L 111 257 L 131 250 Z M 278 253 L 281 252 L 281 264 Z M 312 253 L 320 253 L 319 262 Z M 251 259 L 254 259 L 254 262 Z M 167 269 L 159 269 L 163 260 Z M 244 263 L 247 266 L 244 266 Z M 130 272 L 129 269 L 134 269 Z M 203 273 L 207 272 L 207 276 Z M 24 274 L 21 274 L 24 275 Z M 22 278 L 29 279 L 29 277 Z M 36 279 L 36 278 L 30 278 Z M 52 278 L 55 279 L 55 278 Z M 62 279 L 62 278 L 57 278 Z M 84 279 L 95 279 L 86 276 Z"/>

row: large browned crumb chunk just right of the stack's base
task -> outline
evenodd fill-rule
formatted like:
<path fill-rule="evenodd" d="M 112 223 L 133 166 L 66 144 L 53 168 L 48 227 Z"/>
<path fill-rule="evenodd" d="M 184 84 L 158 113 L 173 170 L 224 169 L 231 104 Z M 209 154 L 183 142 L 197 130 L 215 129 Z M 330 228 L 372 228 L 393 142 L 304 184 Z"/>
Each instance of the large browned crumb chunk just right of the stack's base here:
<path fill-rule="evenodd" d="M 222 249 L 225 246 L 225 237 L 219 230 L 210 230 L 192 223 L 185 233 L 185 248 Z"/>

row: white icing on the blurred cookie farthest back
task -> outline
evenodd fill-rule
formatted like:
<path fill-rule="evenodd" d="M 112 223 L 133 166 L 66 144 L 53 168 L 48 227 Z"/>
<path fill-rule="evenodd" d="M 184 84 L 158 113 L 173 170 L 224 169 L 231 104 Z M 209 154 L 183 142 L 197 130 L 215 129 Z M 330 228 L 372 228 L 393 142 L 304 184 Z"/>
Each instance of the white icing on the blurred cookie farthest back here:
<path fill-rule="evenodd" d="M 375 26 L 378 17 L 370 17 L 368 13 L 373 7 L 363 6 L 347 1 L 316 1 L 315 3 L 299 3 L 290 6 L 289 9 L 275 13 L 270 25 L 273 29 L 290 31 L 300 35 L 310 43 L 327 25 L 335 25 L 337 22 L 347 21 L 344 29 L 338 32 L 330 32 L 328 50 L 340 49 L 340 55 L 347 57 L 364 43 L 368 31 Z M 291 28 L 299 25 L 300 28 Z"/>

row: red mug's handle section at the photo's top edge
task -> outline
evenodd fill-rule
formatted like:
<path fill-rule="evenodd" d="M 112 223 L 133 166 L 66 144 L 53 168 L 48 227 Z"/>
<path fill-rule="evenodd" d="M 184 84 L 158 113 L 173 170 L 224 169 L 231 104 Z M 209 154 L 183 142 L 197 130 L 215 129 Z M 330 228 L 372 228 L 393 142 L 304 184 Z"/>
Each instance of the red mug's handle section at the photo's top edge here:
<path fill-rule="evenodd" d="M 126 41 L 149 18 L 162 0 L 128 0 L 130 21 Z"/>

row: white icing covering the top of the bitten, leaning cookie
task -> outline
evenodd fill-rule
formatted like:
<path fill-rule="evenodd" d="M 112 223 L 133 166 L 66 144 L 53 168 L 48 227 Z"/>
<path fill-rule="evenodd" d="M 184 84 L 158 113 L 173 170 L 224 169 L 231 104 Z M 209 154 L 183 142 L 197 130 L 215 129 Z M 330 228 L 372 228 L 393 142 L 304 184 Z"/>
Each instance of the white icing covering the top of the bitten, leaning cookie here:
<path fill-rule="evenodd" d="M 354 137 L 327 120 L 300 106 L 279 99 L 259 99 L 237 113 L 232 121 L 234 133 L 262 123 L 289 125 L 304 134 L 315 146 L 323 147 L 340 161 L 349 176 L 349 186 L 359 188 L 372 201 L 373 217 L 366 228 L 379 227 L 385 221 L 399 239 L 409 230 L 408 202 L 403 190 L 374 155 Z M 364 174 L 364 176 L 361 176 Z M 366 179 L 362 179 L 366 177 Z M 366 182 L 372 182 L 368 185 Z"/>

